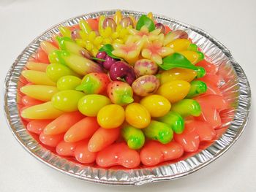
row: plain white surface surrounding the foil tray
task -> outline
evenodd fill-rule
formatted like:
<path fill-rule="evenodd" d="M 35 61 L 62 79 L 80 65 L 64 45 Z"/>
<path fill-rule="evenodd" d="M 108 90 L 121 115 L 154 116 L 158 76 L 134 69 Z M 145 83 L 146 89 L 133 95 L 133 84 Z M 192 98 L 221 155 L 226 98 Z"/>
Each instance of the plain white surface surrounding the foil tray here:
<path fill-rule="evenodd" d="M 104 9 L 131 9 L 167 15 L 203 28 L 219 39 L 243 67 L 252 88 L 252 107 L 236 145 L 204 169 L 179 180 L 139 187 L 116 187 L 69 177 L 37 161 L 12 136 L 1 106 L 0 191 L 256 191 L 256 1 L 0 0 L 0 82 L 31 40 L 56 23 Z"/>

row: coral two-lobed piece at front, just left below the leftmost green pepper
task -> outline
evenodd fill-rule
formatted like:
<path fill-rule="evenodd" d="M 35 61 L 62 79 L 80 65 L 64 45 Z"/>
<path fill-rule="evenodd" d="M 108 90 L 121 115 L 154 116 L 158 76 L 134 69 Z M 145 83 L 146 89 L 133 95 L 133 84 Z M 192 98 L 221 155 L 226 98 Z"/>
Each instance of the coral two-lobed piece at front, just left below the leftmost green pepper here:
<path fill-rule="evenodd" d="M 115 143 L 97 154 L 96 163 L 101 167 L 121 165 L 132 169 L 140 164 L 140 155 L 136 150 L 129 149 L 126 143 Z"/>

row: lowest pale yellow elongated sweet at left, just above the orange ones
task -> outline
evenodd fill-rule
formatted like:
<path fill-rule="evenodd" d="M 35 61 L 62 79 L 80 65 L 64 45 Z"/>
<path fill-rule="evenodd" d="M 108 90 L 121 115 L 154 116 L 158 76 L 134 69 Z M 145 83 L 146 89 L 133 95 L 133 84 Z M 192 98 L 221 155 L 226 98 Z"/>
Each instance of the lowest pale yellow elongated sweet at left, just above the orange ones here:
<path fill-rule="evenodd" d="M 28 119 L 55 119 L 64 112 L 53 107 L 53 102 L 48 101 L 43 104 L 37 104 L 22 110 L 21 117 Z"/>

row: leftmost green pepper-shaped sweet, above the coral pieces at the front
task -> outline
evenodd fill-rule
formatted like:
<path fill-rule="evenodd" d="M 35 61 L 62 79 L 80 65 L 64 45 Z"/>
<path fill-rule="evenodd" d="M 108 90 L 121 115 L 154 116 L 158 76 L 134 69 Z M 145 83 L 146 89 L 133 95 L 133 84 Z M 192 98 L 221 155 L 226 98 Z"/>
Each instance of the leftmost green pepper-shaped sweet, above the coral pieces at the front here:
<path fill-rule="evenodd" d="M 128 147 L 132 150 L 138 150 L 144 145 L 145 137 L 140 128 L 124 126 L 121 129 L 121 135 L 126 140 Z"/>

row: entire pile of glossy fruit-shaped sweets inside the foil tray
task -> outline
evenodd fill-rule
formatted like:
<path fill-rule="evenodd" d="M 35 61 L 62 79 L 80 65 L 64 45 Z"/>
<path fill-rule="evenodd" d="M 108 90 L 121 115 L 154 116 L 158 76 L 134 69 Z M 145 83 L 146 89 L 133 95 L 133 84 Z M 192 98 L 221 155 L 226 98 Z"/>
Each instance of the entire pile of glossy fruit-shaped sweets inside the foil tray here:
<path fill-rule="evenodd" d="M 185 31 L 119 11 L 59 30 L 20 76 L 20 116 L 42 145 L 82 164 L 136 168 L 217 138 L 221 77 Z"/>

